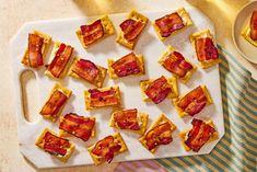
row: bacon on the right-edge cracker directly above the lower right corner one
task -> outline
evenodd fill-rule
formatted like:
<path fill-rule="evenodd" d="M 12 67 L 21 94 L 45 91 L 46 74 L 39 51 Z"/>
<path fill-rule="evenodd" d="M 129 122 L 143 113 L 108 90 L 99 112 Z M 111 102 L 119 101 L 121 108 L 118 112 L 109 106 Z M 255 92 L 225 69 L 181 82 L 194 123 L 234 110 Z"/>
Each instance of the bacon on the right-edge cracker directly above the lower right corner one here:
<path fill-rule="evenodd" d="M 178 106 L 190 116 L 198 114 L 207 104 L 207 98 L 201 87 L 198 87 L 186 94 L 178 103 Z"/>

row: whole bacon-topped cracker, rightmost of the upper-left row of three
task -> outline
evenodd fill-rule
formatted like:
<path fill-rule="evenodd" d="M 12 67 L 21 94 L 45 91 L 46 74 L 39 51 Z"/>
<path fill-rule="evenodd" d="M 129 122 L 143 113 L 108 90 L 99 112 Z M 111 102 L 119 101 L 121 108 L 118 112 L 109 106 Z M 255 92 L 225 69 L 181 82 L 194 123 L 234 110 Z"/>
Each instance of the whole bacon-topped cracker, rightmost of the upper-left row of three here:
<path fill-rule="evenodd" d="M 97 88 L 102 88 L 106 71 L 107 69 L 95 65 L 91 60 L 75 57 L 71 65 L 69 76 L 85 80 Z"/>

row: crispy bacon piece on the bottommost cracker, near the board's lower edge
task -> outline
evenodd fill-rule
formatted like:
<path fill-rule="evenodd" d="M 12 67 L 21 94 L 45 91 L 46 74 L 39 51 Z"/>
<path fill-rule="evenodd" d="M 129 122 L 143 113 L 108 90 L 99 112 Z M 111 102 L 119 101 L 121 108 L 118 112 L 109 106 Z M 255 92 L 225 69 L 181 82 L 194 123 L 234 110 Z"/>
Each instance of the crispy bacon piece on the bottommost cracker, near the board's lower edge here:
<path fill-rule="evenodd" d="M 94 149 L 92 150 L 92 153 L 104 158 L 108 163 L 110 163 L 114 158 L 114 153 L 119 151 L 120 148 L 120 145 L 114 142 L 113 136 L 107 136 L 96 142 Z"/>

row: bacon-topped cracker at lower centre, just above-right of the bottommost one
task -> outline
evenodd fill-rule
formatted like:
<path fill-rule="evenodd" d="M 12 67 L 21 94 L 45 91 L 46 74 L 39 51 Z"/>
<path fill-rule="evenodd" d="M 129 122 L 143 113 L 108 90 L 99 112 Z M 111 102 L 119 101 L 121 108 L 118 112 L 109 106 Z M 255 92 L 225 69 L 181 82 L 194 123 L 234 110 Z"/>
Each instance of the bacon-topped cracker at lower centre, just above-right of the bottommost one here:
<path fill-rule="evenodd" d="M 137 108 L 118 110 L 112 114 L 109 126 L 119 129 L 129 129 L 137 134 L 144 134 L 148 125 L 148 114 Z"/>

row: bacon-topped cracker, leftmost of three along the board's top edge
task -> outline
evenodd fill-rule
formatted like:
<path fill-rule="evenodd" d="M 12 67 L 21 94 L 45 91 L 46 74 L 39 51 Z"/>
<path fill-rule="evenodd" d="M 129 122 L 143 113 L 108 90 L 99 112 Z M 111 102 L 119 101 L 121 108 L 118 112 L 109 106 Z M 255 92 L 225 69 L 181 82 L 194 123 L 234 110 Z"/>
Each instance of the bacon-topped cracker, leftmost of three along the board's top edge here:
<path fill-rule="evenodd" d="M 115 33 L 114 25 L 107 15 L 85 25 L 75 32 L 84 48 Z"/>

